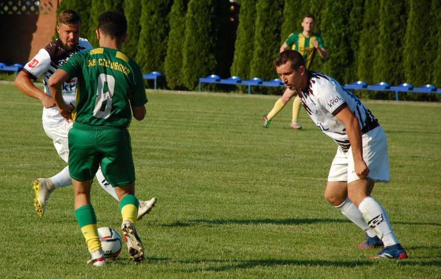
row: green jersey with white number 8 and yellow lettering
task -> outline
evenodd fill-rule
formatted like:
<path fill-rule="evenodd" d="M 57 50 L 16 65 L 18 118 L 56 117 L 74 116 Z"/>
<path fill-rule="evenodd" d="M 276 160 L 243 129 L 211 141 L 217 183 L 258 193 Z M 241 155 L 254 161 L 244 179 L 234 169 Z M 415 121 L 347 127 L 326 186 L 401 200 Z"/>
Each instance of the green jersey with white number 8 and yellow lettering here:
<path fill-rule="evenodd" d="M 92 126 L 127 128 L 130 106 L 147 103 L 140 66 L 117 49 L 100 47 L 72 56 L 60 67 L 78 78 L 74 121 Z"/>

